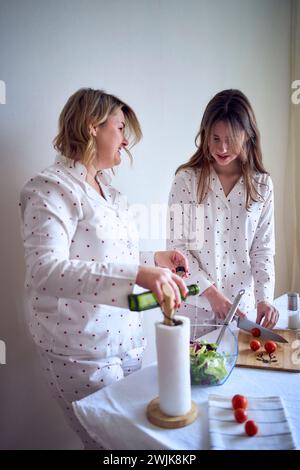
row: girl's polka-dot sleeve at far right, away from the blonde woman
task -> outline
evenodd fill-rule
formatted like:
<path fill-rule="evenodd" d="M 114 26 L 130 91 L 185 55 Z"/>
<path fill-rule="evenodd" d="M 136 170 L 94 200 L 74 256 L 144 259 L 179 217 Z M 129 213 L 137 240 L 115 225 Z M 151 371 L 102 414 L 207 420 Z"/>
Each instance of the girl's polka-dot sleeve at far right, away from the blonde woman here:
<path fill-rule="evenodd" d="M 274 193 L 270 178 L 268 185 L 269 192 L 263 204 L 250 250 L 251 272 L 254 279 L 256 304 L 261 301 L 272 303 L 274 299 Z"/>

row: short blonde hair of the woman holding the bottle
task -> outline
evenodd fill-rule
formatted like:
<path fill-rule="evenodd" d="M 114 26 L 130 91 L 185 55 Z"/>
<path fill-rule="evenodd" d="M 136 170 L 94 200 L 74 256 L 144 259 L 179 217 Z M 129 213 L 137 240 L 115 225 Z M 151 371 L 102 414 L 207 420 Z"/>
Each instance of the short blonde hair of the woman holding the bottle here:
<path fill-rule="evenodd" d="M 92 162 L 96 155 L 95 138 L 90 126 L 104 124 L 108 117 L 117 109 L 121 109 L 125 117 L 125 137 L 130 148 L 142 137 L 142 131 L 135 112 L 128 104 L 103 90 L 81 88 L 76 91 L 63 107 L 59 116 L 58 134 L 53 140 L 55 150 L 61 155 L 85 165 Z M 130 160 L 132 155 L 125 148 Z"/>

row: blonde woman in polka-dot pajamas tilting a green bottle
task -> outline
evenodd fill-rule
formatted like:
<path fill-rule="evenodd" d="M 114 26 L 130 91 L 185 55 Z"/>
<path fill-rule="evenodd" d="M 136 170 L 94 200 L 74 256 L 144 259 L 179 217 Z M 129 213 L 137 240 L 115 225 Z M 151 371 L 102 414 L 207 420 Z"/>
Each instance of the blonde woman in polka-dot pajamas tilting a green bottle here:
<path fill-rule="evenodd" d="M 127 301 L 134 284 L 160 303 L 169 284 L 176 307 L 180 290 L 187 294 L 174 274 L 178 265 L 188 272 L 180 252 L 157 252 L 153 267 L 141 264 L 135 225 L 106 171 L 121 162 L 123 149 L 129 153 L 131 136 L 136 143 L 141 130 L 127 104 L 100 90 L 77 91 L 60 115 L 56 162 L 21 192 L 30 330 L 51 388 L 86 447 L 93 444 L 72 401 L 141 367 L 141 316 Z"/>

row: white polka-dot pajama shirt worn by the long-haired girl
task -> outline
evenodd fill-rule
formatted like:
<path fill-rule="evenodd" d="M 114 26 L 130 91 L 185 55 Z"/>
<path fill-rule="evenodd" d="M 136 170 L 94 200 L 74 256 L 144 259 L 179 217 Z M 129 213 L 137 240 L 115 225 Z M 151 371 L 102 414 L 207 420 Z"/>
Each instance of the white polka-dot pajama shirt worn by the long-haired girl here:
<path fill-rule="evenodd" d="M 199 170 L 184 170 L 173 181 L 169 195 L 171 211 L 168 249 L 177 248 L 186 253 L 191 270 L 188 282 L 198 284 L 201 292 L 215 284 L 224 295 L 233 299 L 244 288 L 245 309 L 253 308 L 255 302 L 262 300 L 272 302 L 275 248 L 271 178 L 264 174 L 253 175 L 261 197 L 258 202 L 252 202 L 247 211 L 243 178 L 226 197 L 212 168 L 210 190 L 203 207 L 202 230 L 196 237 L 198 242 L 202 237 L 203 244 L 201 246 L 200 243 L 196 250 L 190 250 L 191 239 L 195 241 L 195 230 L 192 229 L 197 213 L 198 178 Z M 175 226 L 172 211 L 172 207 L 178 211 L 178 206 L 181 208 L 182 227 L 188 227 L 188 233 L 182 229 L 179 235 L 180 219 L 177 218 Z M 188 297 L 187 303 L 198 307 L 202 319 L 207 318 L 210 304 L 204 296 Z"/>

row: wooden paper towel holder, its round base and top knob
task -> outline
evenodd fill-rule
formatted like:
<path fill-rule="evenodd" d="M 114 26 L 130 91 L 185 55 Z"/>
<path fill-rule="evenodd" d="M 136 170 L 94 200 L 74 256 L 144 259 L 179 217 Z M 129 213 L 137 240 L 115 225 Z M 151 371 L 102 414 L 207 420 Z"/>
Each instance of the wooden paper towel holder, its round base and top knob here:
<path fill-rule="evenodd" d="M 164 323 L 166 325 L 172 326 L 172 318 L 174 315 L 174 293 L 167 284 L 163 285 L 162 290 L 164 294 Z M 159 426 L 160 428 L 176 429 L 188 426 L 189 424 L 193 423 L 193 421 L 195 421 L 197 415 L 198 408 L 194 401 L 191 402 L 190 411 L 188 411 L 188 413 L 182 416 L 170 416 L 163 413 L 159 406 L 159 397 L 154 398 L 154 400 L 151 400 L 151 402 L 147 406 L 148 420 L 150 421 L 150 423 L 154 424 L 155 426 Z"/>

